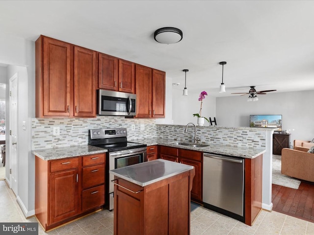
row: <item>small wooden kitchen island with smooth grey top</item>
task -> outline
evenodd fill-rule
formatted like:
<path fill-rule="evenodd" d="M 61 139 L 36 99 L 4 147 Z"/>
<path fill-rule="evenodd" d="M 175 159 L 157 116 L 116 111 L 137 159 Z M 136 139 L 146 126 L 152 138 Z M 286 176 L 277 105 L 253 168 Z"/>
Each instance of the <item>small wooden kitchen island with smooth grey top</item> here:
<path fill-rule="evenodd" d="M 154 160 L 114 170 L 114 234 L 190 234 L 194 167 Z"/>

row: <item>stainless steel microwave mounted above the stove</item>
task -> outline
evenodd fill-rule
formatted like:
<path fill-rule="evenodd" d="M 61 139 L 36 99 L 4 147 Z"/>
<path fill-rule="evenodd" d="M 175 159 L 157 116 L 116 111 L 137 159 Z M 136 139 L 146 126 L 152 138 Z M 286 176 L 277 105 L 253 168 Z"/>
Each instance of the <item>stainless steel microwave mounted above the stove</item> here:
<path fill-rule="evenodd" d="M 97 90 L 97 114 L 135 116 L 136 94 Z"/>

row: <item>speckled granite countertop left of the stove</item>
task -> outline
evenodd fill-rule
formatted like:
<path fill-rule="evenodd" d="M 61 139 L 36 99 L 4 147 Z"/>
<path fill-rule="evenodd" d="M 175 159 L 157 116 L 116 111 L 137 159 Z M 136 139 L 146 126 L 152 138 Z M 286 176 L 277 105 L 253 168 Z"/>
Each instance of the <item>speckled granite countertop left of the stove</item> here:
<path fill-rule="evenodd" d="M 105 153 L 107 152 L 107 150 L 100 147 L 84 144 L 61 148 L 36 149 L 32 150 L 31 152 L 37 157 L 48 161 L 62 158 L 91 155 L 97 153 Z"/>

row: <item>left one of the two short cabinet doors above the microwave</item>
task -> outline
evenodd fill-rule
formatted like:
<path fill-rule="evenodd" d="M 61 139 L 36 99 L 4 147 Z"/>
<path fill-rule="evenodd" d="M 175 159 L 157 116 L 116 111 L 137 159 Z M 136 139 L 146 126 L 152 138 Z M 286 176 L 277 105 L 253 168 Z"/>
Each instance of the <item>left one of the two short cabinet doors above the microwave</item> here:
<path fill-rule="evenodd" d="M 118 58 L 99 53 L 98 69 L 98 88 L 118 91 Z"/>

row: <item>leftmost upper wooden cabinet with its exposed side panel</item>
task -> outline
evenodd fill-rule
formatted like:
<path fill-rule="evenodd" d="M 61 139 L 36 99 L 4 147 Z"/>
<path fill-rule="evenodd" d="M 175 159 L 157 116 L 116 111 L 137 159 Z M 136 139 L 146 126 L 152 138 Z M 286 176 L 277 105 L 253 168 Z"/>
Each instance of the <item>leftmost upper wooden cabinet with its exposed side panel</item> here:
<path fill-rule="evenodd" d="M 35 47 L 36 117 L 70 116 L 71 44 L 41 36 Z"/>

